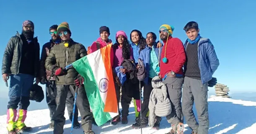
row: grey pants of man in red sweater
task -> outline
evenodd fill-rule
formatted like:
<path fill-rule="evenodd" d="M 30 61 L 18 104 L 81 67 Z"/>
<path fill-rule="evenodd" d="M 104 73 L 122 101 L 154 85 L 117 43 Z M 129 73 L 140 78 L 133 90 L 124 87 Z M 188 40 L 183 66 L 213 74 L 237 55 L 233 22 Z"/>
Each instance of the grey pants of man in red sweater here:
<path fill-rule="evenodd" d="M 181 109 L 181 89 L 184 82 L 183 77 L 166 77 L 163 83 L 167 87 L 168 98 L 171 101 L 172 112 L 166 116 L 171 124 L 183 123 L 183 114 Z"/>

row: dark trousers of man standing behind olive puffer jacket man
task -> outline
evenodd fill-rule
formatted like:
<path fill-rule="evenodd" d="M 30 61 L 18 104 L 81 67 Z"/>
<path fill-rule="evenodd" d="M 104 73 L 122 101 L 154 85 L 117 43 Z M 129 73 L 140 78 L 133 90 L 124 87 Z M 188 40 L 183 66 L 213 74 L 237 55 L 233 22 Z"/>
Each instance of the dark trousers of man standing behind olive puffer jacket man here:
<path fill-rule="evenodd" d="M 46 84 L 46 102 L 48 105 L 48 108 L 50 110 L 50 118 L 51 122 L 53 123 L 54 121 L 52 120 L 52 115 L 56 111 L 56 102 L 55 102 L 55 96 L 56 96 L 56 84 L 55 80 L 50 80 Z M 75 98 L 72 95 L 70 91 L 67 93 L 67 99 L 66 99 L 66 106 L 67 106 L 67 112 L 70 118 L 70 121 L 72 121 L 72 115 L 73 115 L 73 108 L 74 108 L 74 101 Z M 78 108 L 75 107 L 75 116 L 74 116 L 74 122 L 78 123 Z"/>

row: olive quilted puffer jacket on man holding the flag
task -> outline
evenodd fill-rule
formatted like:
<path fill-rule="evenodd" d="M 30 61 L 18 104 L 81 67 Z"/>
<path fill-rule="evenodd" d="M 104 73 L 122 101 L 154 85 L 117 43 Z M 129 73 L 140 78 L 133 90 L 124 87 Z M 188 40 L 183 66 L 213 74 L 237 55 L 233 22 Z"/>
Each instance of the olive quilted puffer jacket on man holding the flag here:
<path fill-rule="evenodd" d="M 45 60 L 45 68 L 50 71 L 54 67 L 62 67 L 64 69 L 67 65 L 86 55 L 85 46 L 70 39 L 68 47 L 65 47 L 63 42 L 52 47 L 52 51 Z M 78 72 L 74 68 L 70 68 L 65 75 L 56 77 L 56 85 L 74 85 L 74 80 L 77 76 Z"/>

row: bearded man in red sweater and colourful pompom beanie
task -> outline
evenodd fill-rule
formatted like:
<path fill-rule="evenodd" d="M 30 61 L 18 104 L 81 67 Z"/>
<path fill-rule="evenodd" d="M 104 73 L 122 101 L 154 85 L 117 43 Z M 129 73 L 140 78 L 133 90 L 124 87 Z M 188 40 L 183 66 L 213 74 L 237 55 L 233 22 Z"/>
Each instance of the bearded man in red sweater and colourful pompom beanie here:
<path fill-rule="evenodd" d="M 178 38 L 173 38 L 174 27 L 164 24 L 160 26 L 160 38 L 164 43 L 161 52 L 159 77 L 167 86 L 168 97 L 171 101 L 172 112 L 166 116 L 171 123 L 171 131 L 167 134 L 183 134 L 183 114 L 181 110 L 181 88 L 184 82 L 183 65 L 186 54 L 183 43 Z"/>

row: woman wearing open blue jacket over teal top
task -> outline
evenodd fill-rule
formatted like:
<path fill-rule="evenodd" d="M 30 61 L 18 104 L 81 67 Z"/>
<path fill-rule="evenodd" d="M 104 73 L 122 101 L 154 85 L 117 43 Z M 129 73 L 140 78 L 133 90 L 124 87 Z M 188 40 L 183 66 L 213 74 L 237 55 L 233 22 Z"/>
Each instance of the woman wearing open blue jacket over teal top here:
<path fill-rule="evenodd" d="M 153 90 L 151 81 L 152 78 L 155 76 L 158 76 L 158 73 L 160 72 L 160 54 L 162 52 L 163 46 L 158 47 L 158 43 L 155 42 L 156 40 L 156 35 L 153 32 L 147 33 L 147 38 L 146 38 L 146 45 L 140 46 L 140 54 L 138 59 L 142 59 L 142 62 L 144 63 L 144 66 L 147 70 L 147 77 L 145 78 L 143 82 L 143 103 L 141 105 L 141 113 L 142 115 L 139 114 L 139 117 L 142 117 L 142 121 L 140 121 L 140 118 L 137 119 L 136 123 L 132 125 L 134 129 L 139 129 L 140 128 L 140 122 L 142 122 L 142 127 L 147 126 L 148 124 L 148 117 L 147 113 L 149 111 L 148 109 L 148 103 L 150 99 L 150 93 Z M 153 126 L 154 129 L 159 128 L 159 122 L 161 118 L 157 119 L 155 122 L 155 125 Z"/>

